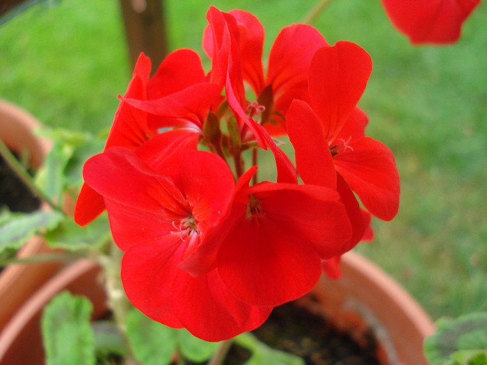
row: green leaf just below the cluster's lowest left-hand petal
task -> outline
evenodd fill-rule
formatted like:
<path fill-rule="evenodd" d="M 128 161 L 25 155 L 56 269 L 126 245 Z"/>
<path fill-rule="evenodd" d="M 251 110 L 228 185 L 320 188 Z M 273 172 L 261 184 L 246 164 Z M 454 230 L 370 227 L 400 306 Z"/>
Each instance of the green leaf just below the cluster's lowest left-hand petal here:
<path fill-rule="evenodd" d="M 110 237 L 109 220 L 106 214 L 99 216 L 86 227 L 80 227 L 72 217 L 66 217 L 58 227 L 44 235 L 46 242 L 52 248 L 70 251 L 99 248 Z"/>

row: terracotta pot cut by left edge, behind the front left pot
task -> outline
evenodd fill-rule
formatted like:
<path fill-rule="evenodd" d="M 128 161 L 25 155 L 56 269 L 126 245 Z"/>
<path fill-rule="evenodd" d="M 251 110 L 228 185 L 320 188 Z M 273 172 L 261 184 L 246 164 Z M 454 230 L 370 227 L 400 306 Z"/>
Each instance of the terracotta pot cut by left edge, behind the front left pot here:
<path fill-rule="evenodd" d="M 0 100 L 0 139 L 13 151 L 29 151 L 31 165 L 40 167 L 52 143 L 46 138 L 34 135 L 40 122 L 21 108 Z M 31 257 L 50 252 L 40 237 L 33 237 L 19 252 L 17 257 Z M 0 331 L 7 321 L 56 270 L 60 263 L 12 264 L 0 273 Z"/>

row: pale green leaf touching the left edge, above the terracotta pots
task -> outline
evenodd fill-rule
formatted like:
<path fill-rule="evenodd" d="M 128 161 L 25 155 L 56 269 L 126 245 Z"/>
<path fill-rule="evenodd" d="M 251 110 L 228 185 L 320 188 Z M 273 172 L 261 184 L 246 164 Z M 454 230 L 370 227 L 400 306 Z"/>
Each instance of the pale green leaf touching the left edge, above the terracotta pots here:
<path fill-rule="evenodd" d="M 4 213 L 0 220 L 0 252 L 19 249 L 41 229 L 56 227 L 64 216 L 57 211 L 33 213 Z"/>

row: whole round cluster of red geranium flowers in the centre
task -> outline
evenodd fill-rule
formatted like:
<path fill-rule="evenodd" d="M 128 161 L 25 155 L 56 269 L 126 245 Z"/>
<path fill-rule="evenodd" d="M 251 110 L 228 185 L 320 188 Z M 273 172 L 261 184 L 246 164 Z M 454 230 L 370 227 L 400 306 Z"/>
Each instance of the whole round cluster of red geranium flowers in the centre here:
<path fill-rule="evenodd" d="M 210 8 L 207 19 L 208 74 L 189 49 L 152 77 L 140 56 L 104 152 L 84 167 L 75 220 L 108 211 L 135 307 L 220 341 L 310 291 L 323 267 L 335 272 L 369 234 L 369 213 L 395 216 L 399 176 L 356 106 L 372 70 L 363 49 L 294 24 L 264 74 L 255 16 Z M 275 143 L 285 133 L 296 166 Z M 277 179 L 257 182 L 268 149 Z"/>

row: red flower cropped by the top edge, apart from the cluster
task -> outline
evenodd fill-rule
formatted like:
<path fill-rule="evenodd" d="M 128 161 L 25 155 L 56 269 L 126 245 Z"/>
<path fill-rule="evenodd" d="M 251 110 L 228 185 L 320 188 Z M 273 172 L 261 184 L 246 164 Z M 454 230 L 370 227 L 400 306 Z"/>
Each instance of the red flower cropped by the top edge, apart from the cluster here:
<path fill-rule="evenodd" d="M 453 43 L 480 0 L 382 0 L 392 24 L 413 44 Z"/>

